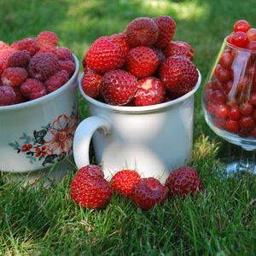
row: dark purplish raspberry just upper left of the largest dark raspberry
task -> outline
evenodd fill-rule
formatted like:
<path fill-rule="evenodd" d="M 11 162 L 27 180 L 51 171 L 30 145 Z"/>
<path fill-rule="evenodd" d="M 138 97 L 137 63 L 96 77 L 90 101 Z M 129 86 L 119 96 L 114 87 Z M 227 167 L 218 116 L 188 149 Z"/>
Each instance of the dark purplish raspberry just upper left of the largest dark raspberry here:
<path fill-rule="evenodd" d="M 27 67 L 31 55 L 27 50 L 17 50 L 8 58 L 8 67 Z"/>

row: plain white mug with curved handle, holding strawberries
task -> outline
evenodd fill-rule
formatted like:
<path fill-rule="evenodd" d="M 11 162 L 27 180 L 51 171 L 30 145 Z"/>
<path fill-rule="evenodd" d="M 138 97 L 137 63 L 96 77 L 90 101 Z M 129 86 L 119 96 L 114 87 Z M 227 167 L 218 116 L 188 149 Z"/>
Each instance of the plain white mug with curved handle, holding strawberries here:
<path fill-rule="evenodd" d="M 146 107 L 119 107 L 98 102 L 79 91 L 88 102 L 90 117 L 75 131 L 73 155 L 76 166 L 90 164 L 90 139 L 96 164 L 105 177 L 122 169 L 136 169 L 143 177 L 164 181 L 176 167 L 191 159 L 193 146 L 194 94 L 201 84 L 186 95 Z"/>

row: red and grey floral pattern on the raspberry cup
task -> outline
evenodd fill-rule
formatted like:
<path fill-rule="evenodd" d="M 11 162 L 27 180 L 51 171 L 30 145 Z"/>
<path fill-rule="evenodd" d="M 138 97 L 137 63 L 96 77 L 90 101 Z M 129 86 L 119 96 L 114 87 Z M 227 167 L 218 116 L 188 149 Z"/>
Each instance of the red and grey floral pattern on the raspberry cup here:
<path fill-rule="evenodd" d="M 19 141 L 9 143 L 18 154 L 34 163 L 42 161 L 42 166 L 63 160 L 71 153 L 74 132 L 79 124 L 78 110 L 73 106 L 72 113 L 61 114 L 54 122 L 34 130 L 32 135 L 23 132 Z"/>

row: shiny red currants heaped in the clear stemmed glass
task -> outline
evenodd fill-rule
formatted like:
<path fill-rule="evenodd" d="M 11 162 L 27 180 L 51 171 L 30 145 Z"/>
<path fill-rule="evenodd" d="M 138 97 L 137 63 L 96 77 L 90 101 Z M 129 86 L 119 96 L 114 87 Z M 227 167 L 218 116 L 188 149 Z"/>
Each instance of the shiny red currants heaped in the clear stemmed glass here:
<path fill-rule="evenodd" d="M 219 129 L 255 138 L 256 29 L 247 20 L 238 20 L 226 41 L 228 45 L 206 85 L 207 112 Z"/>

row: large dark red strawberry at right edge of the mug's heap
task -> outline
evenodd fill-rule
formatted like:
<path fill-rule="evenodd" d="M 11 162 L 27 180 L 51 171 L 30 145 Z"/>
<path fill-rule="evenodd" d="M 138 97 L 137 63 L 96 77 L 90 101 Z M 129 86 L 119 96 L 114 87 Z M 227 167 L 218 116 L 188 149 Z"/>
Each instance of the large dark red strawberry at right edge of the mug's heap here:
<path fill-rule="evenodd" d="M 169 57 L 160 67 L 160 80 L 166 89 L 177 94 L 192 90 L 198 80 L 198 72 L 193 64 L 184 57 Z"/>

